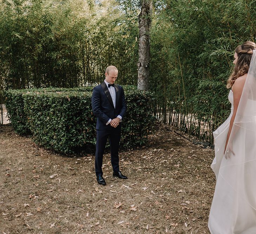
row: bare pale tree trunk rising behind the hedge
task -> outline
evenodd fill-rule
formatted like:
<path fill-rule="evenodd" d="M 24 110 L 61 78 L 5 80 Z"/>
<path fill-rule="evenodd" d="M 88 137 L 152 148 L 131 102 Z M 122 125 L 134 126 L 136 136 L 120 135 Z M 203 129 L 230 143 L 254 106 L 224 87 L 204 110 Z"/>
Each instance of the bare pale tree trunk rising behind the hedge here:
<path fill-rule="evenodd" d="M 138 89 L 149 89 L 150 27 L 152 0 L 142 0 L 139 14 Z"/>

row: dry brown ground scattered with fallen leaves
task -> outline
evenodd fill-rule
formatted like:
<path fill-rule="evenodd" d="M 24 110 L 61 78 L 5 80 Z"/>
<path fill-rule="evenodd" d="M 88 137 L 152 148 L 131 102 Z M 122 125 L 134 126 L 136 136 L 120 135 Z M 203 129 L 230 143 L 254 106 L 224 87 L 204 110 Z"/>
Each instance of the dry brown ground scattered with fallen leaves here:
<path fill-rule="evenodd" d="M 120 152 L 128 180 L 97 184 L 94 155 L 63 156 L 0 127 L 0 233 L 208 233 L 212 149 L 158 125 L 142 148 Z"/>

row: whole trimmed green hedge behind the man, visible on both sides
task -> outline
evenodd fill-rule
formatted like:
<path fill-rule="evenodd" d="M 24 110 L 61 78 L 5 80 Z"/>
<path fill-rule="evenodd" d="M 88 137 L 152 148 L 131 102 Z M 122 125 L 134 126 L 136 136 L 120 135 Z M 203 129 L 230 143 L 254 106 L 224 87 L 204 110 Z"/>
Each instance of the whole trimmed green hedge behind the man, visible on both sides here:
<path fill-rule="evenodd" d="M 127 113 L 120 145 L 134 148 L 146 142 L 155 121 L 153 97 L 134 86 L 124 86 L 124 91 Z M 37 144 L 62 153 L 94 148 L 92 87 L 9 90 L 5 95 L 9 119 L 18 134 L 32 133 Z"/>

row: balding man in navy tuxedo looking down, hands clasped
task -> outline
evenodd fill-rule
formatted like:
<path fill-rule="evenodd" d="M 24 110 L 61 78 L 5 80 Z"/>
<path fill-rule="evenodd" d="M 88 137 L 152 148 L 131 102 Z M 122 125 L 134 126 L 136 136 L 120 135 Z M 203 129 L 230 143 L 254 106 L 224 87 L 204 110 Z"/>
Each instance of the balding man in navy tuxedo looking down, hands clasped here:
<path fill-rule="evenodd" d="M 92 110 L 97 116 L 95 172 L 100 185 L 106 185 L 102 176 L 102 160 L 107 138 L 110 143 L 113 176 L 127 179 L 119 170 L 118 149 L 121 138 L 121 120 L 124 118 L 127 107 L 122 86 L 114 83 L 117 75 L 118 70 L 115 66 L 107 67 L 105 80 L 94 87 L 92 92 Z"/>

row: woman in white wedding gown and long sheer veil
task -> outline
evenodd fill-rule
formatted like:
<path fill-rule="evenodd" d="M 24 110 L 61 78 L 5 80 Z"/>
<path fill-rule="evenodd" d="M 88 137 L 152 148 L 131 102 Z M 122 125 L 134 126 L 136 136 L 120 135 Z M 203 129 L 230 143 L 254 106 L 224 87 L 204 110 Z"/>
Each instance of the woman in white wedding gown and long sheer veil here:
<path fill-rule="evenodd" d="M 209 214 L 211 234 L 256 234 L 256 45 L 234 54 L 228 79 L 229 118 L 213 133 L 211 168 L 216 187 Z"/>

